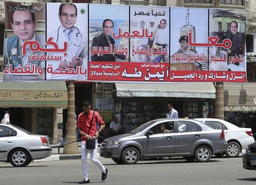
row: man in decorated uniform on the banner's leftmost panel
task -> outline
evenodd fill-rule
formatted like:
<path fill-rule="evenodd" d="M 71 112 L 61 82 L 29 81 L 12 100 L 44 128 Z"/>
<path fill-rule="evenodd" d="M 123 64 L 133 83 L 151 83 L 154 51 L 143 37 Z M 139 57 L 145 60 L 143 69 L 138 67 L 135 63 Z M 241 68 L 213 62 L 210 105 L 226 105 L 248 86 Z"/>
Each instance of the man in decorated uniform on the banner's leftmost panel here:
<path fill-rule="evenodd" d="M 25 9 L 26 11 L 23 11 Z M 22 55 L 22 47 L 25 41 L 38 41 L 41 47 L 45 44 L 45 38 L 35 34 L 37 24 L 35 13 L 28 11 L 28 6 L 20 6 L 20 10 L 12 12 L 11 23 L 14 36 L 8 37 L 4 41 L 4 66 L 9 67 L 11 64 L 14 69 L 21 65 L 24 68 L 27 63 L 30 63 L 30 65 L 38 65 L 38 67 L 44 68 L 44 61 L 28 61 L 28 55 L 33 55 L 35 52 L 27 49 L 27 55 Z M 37 54 L 40 56 L 43 53 L 37 52 Z"/>

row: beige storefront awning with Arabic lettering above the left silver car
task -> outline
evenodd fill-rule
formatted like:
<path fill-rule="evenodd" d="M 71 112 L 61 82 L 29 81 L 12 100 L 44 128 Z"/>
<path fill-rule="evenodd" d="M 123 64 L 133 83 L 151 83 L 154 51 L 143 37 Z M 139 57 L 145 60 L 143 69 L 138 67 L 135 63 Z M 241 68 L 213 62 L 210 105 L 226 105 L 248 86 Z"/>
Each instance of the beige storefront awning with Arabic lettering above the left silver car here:
<path fill-rule="evenodd" d="M 2 75 L 1 75 L 2 77 Z M 65 81 L 0 82 L 0 107 L 68 107 Z"/>

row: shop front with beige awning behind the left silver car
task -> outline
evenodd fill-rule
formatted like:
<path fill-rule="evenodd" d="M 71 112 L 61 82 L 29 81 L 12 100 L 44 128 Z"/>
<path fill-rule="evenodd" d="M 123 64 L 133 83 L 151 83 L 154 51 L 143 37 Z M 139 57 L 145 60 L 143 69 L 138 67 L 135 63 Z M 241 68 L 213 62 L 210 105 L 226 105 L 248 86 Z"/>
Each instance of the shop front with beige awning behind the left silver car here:
<path fill-rule="evenodd" d="M 68 106 L 65 82 L 1 82 L 0 118 L 10 114 L 11 124 L 31 133 L 50 136 L 51 143 L 62 138 L 62 109 Z"/>

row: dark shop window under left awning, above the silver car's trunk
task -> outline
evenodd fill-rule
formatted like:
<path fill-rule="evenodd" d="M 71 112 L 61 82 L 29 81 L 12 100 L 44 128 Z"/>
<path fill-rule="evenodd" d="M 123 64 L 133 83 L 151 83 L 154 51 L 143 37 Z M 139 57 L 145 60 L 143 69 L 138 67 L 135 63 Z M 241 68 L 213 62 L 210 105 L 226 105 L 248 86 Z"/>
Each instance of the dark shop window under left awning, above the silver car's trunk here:
<path fill-rule="evenodd" d="M 53 137 L 53 109 L 38 109 L 37 134 Z"/>

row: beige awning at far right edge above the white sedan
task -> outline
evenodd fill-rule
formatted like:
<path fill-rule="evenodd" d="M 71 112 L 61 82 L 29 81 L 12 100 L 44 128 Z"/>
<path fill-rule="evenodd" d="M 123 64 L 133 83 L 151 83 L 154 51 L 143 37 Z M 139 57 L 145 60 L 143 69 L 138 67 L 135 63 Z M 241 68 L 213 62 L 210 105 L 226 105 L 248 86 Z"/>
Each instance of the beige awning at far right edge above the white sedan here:
<path fill-rule="evenodd" d="M 225 111 L 256 111 L 256 83 L 224 83 Z"/>

